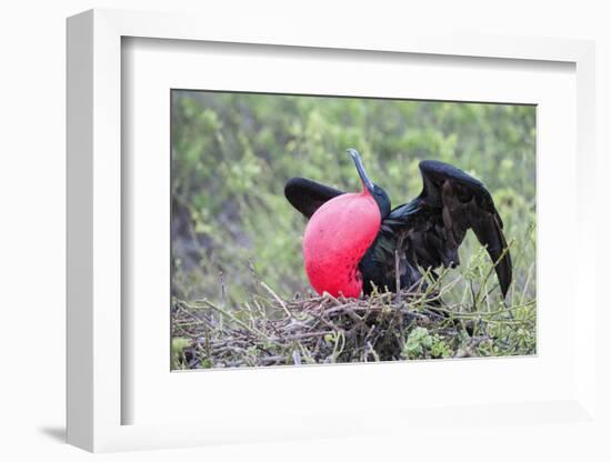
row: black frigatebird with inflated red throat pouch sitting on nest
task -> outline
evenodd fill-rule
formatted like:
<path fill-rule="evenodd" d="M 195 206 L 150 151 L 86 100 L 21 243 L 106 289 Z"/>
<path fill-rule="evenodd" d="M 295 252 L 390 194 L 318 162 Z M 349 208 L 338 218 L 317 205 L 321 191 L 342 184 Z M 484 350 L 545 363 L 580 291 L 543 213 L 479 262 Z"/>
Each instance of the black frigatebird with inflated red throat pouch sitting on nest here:
<path fill-rule="evenodd" d="M 455 268 L 458 249 L 471 229 L 495 264 L 505 297 L 511 257 L 503 222 L 479 180 L 448 163 L 421 161 L 422 192 L 391 210 L 390 198 L 369 179 L 359 153 L 348 152 L 361 192 L 345 193 L 306 178 L 292 178 L 284 187 L 289 202 L 309 219 L 303 260 L 318 293 L 357 298 L 374 288 L 397 291 L 397 281 L 400 289 L 425 287 L 421 270 Z"/>

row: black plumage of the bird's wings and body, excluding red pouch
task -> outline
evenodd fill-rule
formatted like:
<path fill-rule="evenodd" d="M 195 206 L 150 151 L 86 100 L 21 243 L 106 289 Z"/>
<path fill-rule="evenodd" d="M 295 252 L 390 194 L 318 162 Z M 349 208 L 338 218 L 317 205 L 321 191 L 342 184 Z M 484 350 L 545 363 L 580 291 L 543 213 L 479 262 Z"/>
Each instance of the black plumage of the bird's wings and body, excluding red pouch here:
<path fill-rule="evenodd" d="M 448 163 L 425 160 L 419 167 L 422 192 L 392 210 L 385 192 L 374 185 L 372 193 L 382 222 L 378 237 L 359 263 L 363 292 L 370 293 L 373 287 L 395 291 L 397 279 L 401 288 L 412 288 L 421 283 L 422 270 L 455 268 L 460 264 L 459 247 L 471 229 L 495 263 L 504 297 L 512 278 L 511 255 L 502 232 L 503 222 L 490 192 L 479 180 Z M 343 192 L 293 178 L 284 193 L 297 210 L 310 218 L 325 201 Z"/>

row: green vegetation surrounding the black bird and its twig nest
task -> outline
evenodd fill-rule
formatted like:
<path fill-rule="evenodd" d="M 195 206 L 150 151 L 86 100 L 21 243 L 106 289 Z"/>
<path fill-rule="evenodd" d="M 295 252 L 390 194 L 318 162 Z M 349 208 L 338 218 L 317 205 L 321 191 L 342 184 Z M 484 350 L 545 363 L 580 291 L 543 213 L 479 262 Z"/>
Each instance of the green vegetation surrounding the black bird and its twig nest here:
<path fill-rule="evenodd" d="M 361 152 L 369 174 L 387 190 L 393 207 L 420 192 L 420 160 L 438 159 L 463 169 L 489 188 L 511 242 L 514 282 L 507 300 L 500 298 L 487 253 L 469 233 L 460 249 L 461 267 L 445 272 L 438 289 L 450 318 L 460 318 L 452 322 L 470 325 L 449 337 L 438 325 L 408 323 L 400 330 L 400 358 L 534 352 L 534 107 L 174 91 L 174 368 L 263 363 L 257 358 L 267 353 L 254 343 L 251 360 L 232 356 L 216 363 L 200 348 L 201 339 L 244 330 L 236 320 L 256 325 L 260 320 L 243 311 L 246 303 L 253 308 L 258 300 L 259 317 L 278 318 L 278 310 L 288 314 L 277 299 L 310 297 L 301 253 L 306 222 L 284 199 L 283 187 L 300 175 L 359 190 L 345 154 L 349 147 Z M 234 319 L 213 315 L 207 332 L 201 323 L 193 324 L 200 330 L 178 325 L 186 322 L 179 312 L 200 321 L 208 317 L 207 310 L 213 309 L 206 303 Z M 193 349 L 200 353 L 193 354 Z M 272 350 L 273 356 L 287 355 L 274 364 L 293 363 L 294 350 Z M 365 356 L 372 360 L 375 354 Z"/>

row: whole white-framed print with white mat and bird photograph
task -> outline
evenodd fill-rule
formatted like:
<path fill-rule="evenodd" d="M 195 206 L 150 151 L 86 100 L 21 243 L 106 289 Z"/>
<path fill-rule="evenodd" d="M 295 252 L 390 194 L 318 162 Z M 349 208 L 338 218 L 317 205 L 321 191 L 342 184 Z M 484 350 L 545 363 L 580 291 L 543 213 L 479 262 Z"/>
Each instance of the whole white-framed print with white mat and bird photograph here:
<path fill-rule="evenodd" d="M 592 43 L 203 22 L 68 21 L 69 442 L 595 425 Z"/>

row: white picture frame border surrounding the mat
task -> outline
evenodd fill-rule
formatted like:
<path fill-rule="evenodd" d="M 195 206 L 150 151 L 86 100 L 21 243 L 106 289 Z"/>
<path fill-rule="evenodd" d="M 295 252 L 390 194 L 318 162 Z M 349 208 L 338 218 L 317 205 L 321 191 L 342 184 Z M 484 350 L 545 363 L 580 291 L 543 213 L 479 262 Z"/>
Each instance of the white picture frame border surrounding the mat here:
<path fill-rule="evenodd" d="M 575 227 L 571 231 L 577 242 L 575 291 L 584 300 L 574 319 L 571 354 L 574 362 L 571 378 L 574 383 L 553 400 L 524 400 L 487 403 L 461 401 L 460 398 L 434 408 L 409 406 L 409 415 L 400 406 L 368 408 L 363 412 L 381 422 L 362 428 L 358 415 L 337 415 L 330 410 L 321 414 L 304 414 L 281 403 L 269 409 L 264 419 L 244 419 L 242 423 L 223 422 L 221 416 L 196 423 L 160 422 L 126 424 L 124 408 L 134 396 L 126 388 L 124 353 L 130 339 L 122 312 L 129 288 L 124 287 L 122 252 L 133 241 L 122 240 L 123 197 L 129 178 L 122 174 L 122 41 L 124 38 L 181 40 L 193 42 L 249 43 L 251 46 L 308 48 L 317 50 L 368 50 L 370 53 L 411 53 L 417 56 L 471 57 L 483 60 L 520 60 L 564 62 L 574 66 L 577 76 L 575 113 Z M 186 42 L 181 42 L 186 43 Z M 180 47 L 180 44 L 179 44 Z M 478 425 L 478 418 L 498 413 L 504 422 L 533 428 L 535 423 L 554 421 L 579 426 L 583 422 L 597 425 L 595 360 L 591 354 L 595 344 L 597 300 L 585 274 L 594 268 L 595 243 L 579 239 L 593 217 L 592 204 L 585 197 L 585 185 L 594 179 L 594 47 L 592 42 L 564 39 L 442 36 L 415 32 L 388 36 L 338 34 L 334 30 L 267 28 L 266 33 L 254 24 L 241 23 L 228 29 L 208 18 L 187 14 L 92 10 L 68 20 L 68 441 L 89 451 L 172 448 L 238 441 L 276 441 L 296 438 L 330 438 L 367 435 L 381 432 L 408 431 L 422 436 L 435 422 L 449 422 L 447 431 L 464 431 L 464 425 Z M 579 158 L 577 158 L 577 155 Z M 591 162 L 590 162 L 591 161 Z M 581 288 L 581 289 L 580 289 Z M 568 300 L 567 303 L 574 303 Z M 572 309 L 572 308 L 571 308 Z M 570 311 L 573 313 L 574 311 Z M 163 342 L 163 339 L 160 339 Z M 511 360 L 510 360 L 511 361 Z M 512 361 L 519 361 L 512 360 Z M 451 368 L 464 368 L 464 363 Z M 512 368 L 513 365 L 509 365 Z M 297 368 L 299 369 L 299 368 Z M 314 374 L 313 369 L 300 369 Z M 327 369 L 330 371 L 330 369 Z M 335 380 L 359 379 L 358 369 L 335 368 Z M 395 369 L 397 371 L 397 369 Z M 168 374 L 170 373 L 168 368 Z M 223 372 L 229 380 L 244 380 L 252 371 Z M 237 374 L 242 374 L 238 376 Z M 278 373 L 278 372 L 274 372 Z M 443 371 L 440 372 L 443 375 Z M 455 372 L 454 372 L 455 373 Z M 524 372 L 518 372 L 524 373 Z M 187 375 L 187 374 L 183 374 Z M 344 376 L 344 379 L 342 379 Z M 151 384 L 154 386 L 154 384 Z M 273 423 L 274 415 L 282 415 Z M 290 419 L 293 419 L 291 421 Z M 500 422 L 490 418 L 489 424 Z M 129 419 L 128 419 L 129 420 Z M 171 422 L 168 419 L 168 422 Z M 180 419 L 179 419 L 180 421 Z M 299 421 L 299 423 L 298 423 Z M 253 422 L 260 422 L 254 426 Z M 382 423 L 383 422 L 383 423 Z M 418 423 L 418 425 L 417 425 Z M 419 426 L 420 425 L 420 426 Z M 310 430 L 308 430 L 310 429 Z M 418 436 L 418 438 L 420 438 Z M 423 436 L 422 436 L 423 438 Z"/>

